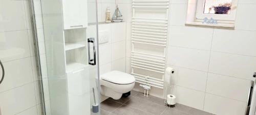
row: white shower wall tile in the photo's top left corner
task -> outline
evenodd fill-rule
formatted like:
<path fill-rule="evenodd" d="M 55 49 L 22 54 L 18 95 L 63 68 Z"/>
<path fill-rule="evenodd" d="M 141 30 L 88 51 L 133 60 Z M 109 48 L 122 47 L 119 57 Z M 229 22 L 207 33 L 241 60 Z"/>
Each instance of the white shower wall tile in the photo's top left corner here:
<path fill-rule="evenodd" d="M 0 10 L 0 32 L 27 29 L 24 1 L 0 1 Z"/>

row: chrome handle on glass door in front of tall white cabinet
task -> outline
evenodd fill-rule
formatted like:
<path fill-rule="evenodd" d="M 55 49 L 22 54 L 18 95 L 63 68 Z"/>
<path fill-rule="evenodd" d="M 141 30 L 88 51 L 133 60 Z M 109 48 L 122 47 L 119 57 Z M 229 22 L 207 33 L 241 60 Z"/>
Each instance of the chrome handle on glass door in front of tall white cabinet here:
<path fill-rule="evenodd" d="M 93 45 L 93 48 L 91 48 L 91 44 Z M 88 63 L 90 65 L 96 65 L 95 39 L 92 37 L 88 38 Z"/>

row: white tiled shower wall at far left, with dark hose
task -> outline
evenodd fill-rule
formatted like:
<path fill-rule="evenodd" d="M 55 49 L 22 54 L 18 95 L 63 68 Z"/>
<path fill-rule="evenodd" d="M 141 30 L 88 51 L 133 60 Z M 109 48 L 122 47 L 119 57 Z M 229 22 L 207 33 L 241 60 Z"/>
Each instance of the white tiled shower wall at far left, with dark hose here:
<path fill-rule="evenodd" d="M 0 1 L 0 10 L 0 58 L 6 71 L 0 85 L 2 115 L 39 115 L 41 107 L 29 3 Z"/>

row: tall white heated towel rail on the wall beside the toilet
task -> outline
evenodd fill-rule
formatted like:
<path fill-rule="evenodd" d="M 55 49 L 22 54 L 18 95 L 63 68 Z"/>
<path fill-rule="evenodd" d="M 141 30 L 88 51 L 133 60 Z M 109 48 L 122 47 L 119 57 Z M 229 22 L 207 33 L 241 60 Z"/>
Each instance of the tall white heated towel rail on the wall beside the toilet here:
<path fill-rule="evenodd" d="M 132 17 L 132 52 L 131 67 L 132 75 L 136 78 L 136 82 L 150 85 L 153 87 L 163 88 L 164 71 L 166 65 L 166 45 L 168 32 L 168 10 L 169 1 L 132 1 L 133 17 Z M 153 16 L 143 16 L 143 11 L 150 10 Z M 136 51 L 136 47 L 148 49 L 156 47 L 162 53 L 148 51 Z M 137 71 L 135 71 L 137 70 Z M 149 71 L 156 73 L 161 77 L 147 74 L 141 74 L 138 71 Z M 144 72 L 144 73 L 145 73 Z"/>

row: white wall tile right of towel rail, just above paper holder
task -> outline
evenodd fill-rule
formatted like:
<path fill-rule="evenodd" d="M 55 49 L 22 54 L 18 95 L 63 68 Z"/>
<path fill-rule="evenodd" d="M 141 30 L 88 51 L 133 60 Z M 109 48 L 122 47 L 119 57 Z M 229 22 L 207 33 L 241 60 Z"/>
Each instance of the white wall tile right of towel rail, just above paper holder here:
<path fill-rule="evenodd" d="M 167 64 L 207 72 L 209 54 L 209 51 L 168 47 Z"/>

